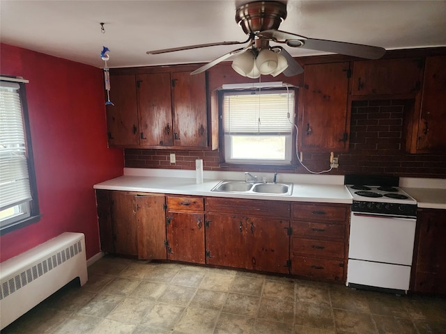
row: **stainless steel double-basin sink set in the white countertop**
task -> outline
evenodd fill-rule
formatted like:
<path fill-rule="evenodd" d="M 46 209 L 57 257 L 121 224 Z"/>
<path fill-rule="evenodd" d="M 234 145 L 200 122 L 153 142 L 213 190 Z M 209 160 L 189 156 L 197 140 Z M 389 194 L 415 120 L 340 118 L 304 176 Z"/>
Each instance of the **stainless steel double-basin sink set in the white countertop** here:
<path fill-rule="evenodd" d="M 292 183 L 248 183 L 243 181 L 223 180 L 210 191 L 224 193 L 254 193 L 265 195 L 285 195 L 293 193 Z"/>

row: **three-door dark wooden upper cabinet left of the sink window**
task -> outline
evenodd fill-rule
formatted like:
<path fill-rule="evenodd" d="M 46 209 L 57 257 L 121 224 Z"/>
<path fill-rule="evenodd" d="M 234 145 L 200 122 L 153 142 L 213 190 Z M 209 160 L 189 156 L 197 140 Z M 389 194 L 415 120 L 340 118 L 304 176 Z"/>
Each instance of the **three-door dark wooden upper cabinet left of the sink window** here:
<path fill-rule="evenodd" d="M 206 73 L 192 67 L 111 71 L 109 145 L 126 148 L 215 149 L 211 143 Z M 125 72 L 125 74 L 122 74 Z"/>

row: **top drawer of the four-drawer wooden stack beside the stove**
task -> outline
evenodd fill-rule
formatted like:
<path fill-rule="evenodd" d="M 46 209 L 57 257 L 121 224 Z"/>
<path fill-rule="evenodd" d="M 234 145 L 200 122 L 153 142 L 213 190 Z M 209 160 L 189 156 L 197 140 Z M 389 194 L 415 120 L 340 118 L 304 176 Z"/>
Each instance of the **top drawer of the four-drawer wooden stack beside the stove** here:
<path fill-rule="evenodd" d="M 348 216 L 346 205 L 321 205 L 321 204 L 293 204 L 294 219 L 308 219 L 312 221 L 330 221 L 345 223 Z"/>

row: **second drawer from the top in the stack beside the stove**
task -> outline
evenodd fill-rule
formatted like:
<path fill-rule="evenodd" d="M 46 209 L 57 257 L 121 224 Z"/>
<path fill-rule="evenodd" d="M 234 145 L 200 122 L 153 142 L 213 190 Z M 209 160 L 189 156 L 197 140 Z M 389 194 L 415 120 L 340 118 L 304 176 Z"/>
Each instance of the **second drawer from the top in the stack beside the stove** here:
<path fill-rule="evenodd" d="M 291 223 L 291 227 L 293 228 L 293 234 L 305 237 L 344 239 L 346 233 L 346 225 L 342 224 L 295 221 Z"/>

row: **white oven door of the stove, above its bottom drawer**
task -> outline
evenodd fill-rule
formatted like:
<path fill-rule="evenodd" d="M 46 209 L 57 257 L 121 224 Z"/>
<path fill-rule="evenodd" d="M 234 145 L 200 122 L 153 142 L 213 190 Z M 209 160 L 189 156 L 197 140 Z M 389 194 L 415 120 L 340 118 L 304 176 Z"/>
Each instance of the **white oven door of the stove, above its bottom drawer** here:
<path fill-rule="evenodd" d="M 412 265 L 415 218 L 353 212 L 348 258 Z"/>

